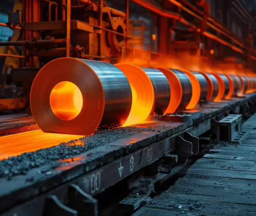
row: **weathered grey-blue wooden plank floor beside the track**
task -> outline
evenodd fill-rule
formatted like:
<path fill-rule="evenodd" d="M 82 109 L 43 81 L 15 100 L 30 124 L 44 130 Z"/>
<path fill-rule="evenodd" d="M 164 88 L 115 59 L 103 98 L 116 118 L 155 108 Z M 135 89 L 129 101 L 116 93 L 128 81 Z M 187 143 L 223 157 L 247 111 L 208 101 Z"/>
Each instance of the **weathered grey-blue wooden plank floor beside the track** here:
<path fill-rule="evenodd" d="M 256 216 L 256 114 L 241 145 L 216 146 L 133 216 Z"/>

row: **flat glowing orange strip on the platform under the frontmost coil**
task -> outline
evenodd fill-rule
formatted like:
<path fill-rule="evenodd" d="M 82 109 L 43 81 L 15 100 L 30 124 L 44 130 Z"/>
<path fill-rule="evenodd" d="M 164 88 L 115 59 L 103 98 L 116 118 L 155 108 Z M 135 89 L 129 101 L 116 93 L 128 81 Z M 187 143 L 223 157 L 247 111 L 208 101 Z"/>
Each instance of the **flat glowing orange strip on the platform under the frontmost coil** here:
<path fill-rule="evenodd" d="M 70 134 L 44 133 L 41 130 L 13 134 L 0 137 L 1 146 L 0 160 L 11 156 L 17 156 L 24 152 L 36 151 L 41 148 L 49 148 L 62 142 L 79 139 L 83 136 Z M 22 140 L 22 141 L 21 141 Z M 22 145 L 20 145 L 22 143 Z"/>

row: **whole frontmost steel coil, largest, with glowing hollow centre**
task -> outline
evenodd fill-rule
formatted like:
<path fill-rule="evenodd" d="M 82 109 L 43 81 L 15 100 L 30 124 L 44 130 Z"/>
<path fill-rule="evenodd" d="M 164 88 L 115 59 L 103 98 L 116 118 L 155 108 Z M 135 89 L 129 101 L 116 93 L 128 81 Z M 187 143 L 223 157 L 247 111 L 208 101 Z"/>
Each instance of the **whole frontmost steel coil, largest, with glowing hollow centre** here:
<path fill-rule="evenodd" d="M 128 80 L 116 66 L 59 58 L 37 73 L 30 106 L 44 132 L 90 135 L 99 126 L 122 125 L 132 105 Z"/>

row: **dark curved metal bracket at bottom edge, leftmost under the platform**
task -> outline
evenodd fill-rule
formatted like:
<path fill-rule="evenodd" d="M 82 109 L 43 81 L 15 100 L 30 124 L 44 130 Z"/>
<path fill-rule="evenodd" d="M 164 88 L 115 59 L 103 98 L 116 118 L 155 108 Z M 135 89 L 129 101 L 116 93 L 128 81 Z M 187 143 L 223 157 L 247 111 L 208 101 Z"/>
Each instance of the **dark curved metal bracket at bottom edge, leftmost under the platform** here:
<path fill-rule="evenodd" d="M 67 207 L 55 195 L 45 199 L 44 216 L 78 216 L 78 212 Z"/>

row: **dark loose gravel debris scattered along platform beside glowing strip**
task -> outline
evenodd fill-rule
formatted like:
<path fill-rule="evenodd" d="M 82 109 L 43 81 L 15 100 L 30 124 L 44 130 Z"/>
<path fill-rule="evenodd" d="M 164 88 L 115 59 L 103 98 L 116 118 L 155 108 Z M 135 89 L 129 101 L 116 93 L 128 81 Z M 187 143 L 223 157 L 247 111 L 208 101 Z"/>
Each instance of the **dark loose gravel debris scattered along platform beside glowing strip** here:
<path fill-rule="evenodd" d="M 64 160 L 78 156 L 88 150 L 104 145 L 117 139 L 137 133 L 163 130 L 164 127 L 139 124 L 136 127 L 113 127 L 107 130 L 97 131 L 95 134 L 57 146 L 40 149 L 34 152 L 26 152 L 16 157 L 9 157 L 0 161 L 0 178 L 12 179 L 13 176 L 26 175 L 33 168 L 51 165 L 56 168 L 58 160 Z M 22 145 L 22 140 L 21 140 Z M 41 170 L 40 173 L 52 174 L 50 170 Z"/>

